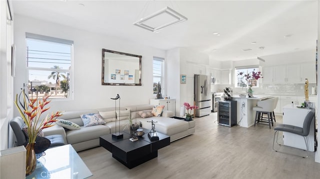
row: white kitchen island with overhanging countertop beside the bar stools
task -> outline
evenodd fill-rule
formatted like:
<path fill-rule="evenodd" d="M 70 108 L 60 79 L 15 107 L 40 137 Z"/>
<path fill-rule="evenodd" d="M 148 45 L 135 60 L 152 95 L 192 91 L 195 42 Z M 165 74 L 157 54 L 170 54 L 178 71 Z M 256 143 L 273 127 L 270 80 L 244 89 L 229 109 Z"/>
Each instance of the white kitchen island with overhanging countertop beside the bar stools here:
<path fill-rule="evenodd" d="M 254 124 L 255 111 L 252 110 L 260 100 L 272 98 L 269 95 L 254 95 L 253 98 L 232 96 L 232 101 L 237 101 L 237 124 L 241 127 L 250 127 Z"/>

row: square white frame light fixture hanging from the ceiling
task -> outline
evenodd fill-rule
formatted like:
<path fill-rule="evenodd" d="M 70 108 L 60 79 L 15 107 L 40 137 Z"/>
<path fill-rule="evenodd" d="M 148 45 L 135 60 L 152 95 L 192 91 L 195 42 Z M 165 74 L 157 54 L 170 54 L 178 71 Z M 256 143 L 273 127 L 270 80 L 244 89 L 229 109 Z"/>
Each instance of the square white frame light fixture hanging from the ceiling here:
<path fill-rule="evenodd" d="M 166 6 L 163 9 L 134 22 L 133 25 L 152 32 L 158 32 L 164 27 L 168 27 L 185 20 L 187 20 L 185 16 Z"/>

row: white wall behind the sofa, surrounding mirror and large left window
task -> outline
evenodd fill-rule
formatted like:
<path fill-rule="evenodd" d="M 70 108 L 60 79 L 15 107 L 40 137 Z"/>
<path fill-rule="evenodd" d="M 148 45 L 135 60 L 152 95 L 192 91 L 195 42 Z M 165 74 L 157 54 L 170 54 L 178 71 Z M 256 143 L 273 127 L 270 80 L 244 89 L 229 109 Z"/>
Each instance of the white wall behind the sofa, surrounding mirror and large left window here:
<path fill-rule="evenodd" d="M 129 42 L 113 36 L 91 33 L 68 26 L 41 21 L 29 17 L 15 16 L 16 28 L 16 77 L 14 93 L 18 93 L 23 83 L 27 83 L 25 32 L 73 40 L 73 100 L 53 101 L 51 111 L 81 110 L 113 107 L 110 100 L 119 94 L 121 106 L 149 104 L 152 98 L 152 59 L 165 57 L 165 51 Z M 142 55 L 142 86 L 102 86 L 102 48 Z M 15 115 L 17 115 L 15 111 Z"/>

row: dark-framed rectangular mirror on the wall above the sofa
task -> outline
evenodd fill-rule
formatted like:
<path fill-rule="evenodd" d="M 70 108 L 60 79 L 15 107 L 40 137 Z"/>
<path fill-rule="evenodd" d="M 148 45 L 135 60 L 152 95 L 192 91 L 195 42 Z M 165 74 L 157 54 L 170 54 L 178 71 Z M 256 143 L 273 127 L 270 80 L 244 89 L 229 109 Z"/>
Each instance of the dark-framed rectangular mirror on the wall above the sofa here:
<path fill-rule="evenodd" d="M 141 86 L 141 58 L 102 48 L 101 85 Z"/>

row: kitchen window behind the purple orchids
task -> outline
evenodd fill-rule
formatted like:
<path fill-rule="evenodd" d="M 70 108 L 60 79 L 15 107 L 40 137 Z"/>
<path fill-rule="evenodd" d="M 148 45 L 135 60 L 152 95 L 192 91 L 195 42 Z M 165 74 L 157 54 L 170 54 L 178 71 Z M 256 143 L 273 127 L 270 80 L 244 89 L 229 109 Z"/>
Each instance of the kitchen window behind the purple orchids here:
<path fill-rule="evenodd" d="M 235 87 L 246 87 L 251 85 L 252 87 L 259 87 L 258 80 L 252 78 L 252 72 L 258 73 L 258 66 L 253 67 L 236 67 L 234 69 L 235 75 Z M 250 78 L 247 79 L 247 76 Z M 249 84 L 248 84 L 249 82 Z"/>

